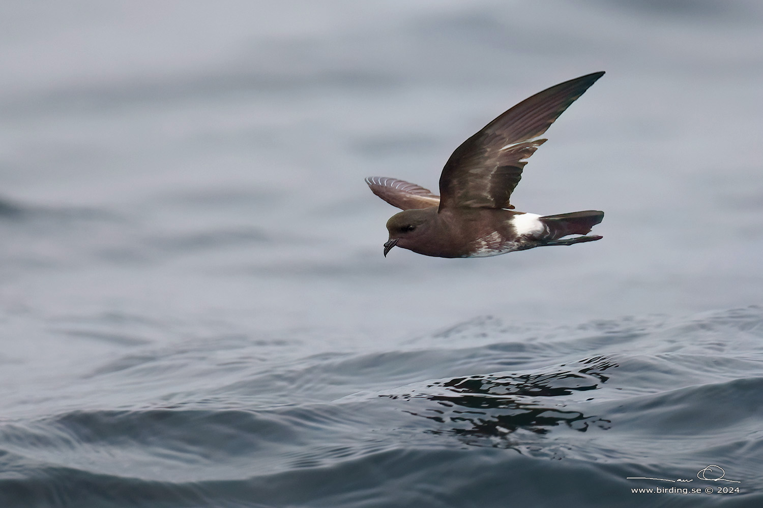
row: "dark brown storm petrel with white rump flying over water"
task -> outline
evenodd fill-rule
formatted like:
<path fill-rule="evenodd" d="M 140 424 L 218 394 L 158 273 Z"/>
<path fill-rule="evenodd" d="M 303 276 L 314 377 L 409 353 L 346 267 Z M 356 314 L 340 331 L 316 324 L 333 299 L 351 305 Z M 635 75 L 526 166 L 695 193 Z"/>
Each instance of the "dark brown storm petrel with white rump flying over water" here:
<path fill-rule="evenodd" d="M 563 237 L 588 234 L 604 212 L 539 216 L 517 212 L 509 198 L 526 159 L 546 142 L 538 136 L 602 75 L 547 88 L 488 123 L 452 153 L 439 177 L 439 196 L 396 178 L 366 178 L 373 193 L 403 210 L 387 221 L 385 257 L 395 245 L 426 256 L 486 257 L 600 240 Z"/>

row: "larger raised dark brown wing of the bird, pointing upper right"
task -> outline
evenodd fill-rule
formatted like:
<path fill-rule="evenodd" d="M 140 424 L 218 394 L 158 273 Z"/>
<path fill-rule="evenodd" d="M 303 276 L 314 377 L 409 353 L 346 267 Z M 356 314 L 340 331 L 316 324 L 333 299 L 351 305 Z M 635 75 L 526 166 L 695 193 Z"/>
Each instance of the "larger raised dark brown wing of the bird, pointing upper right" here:
<path fill-rule="evenodd" d="M 602 75 L 604 72 L 594 72 L 547 88 L 463 142 L 439 177 L 439 208 L 513 208 L 509 197 L 522 177 L 526 159 L 546 142 L 536 138 Z"/>

